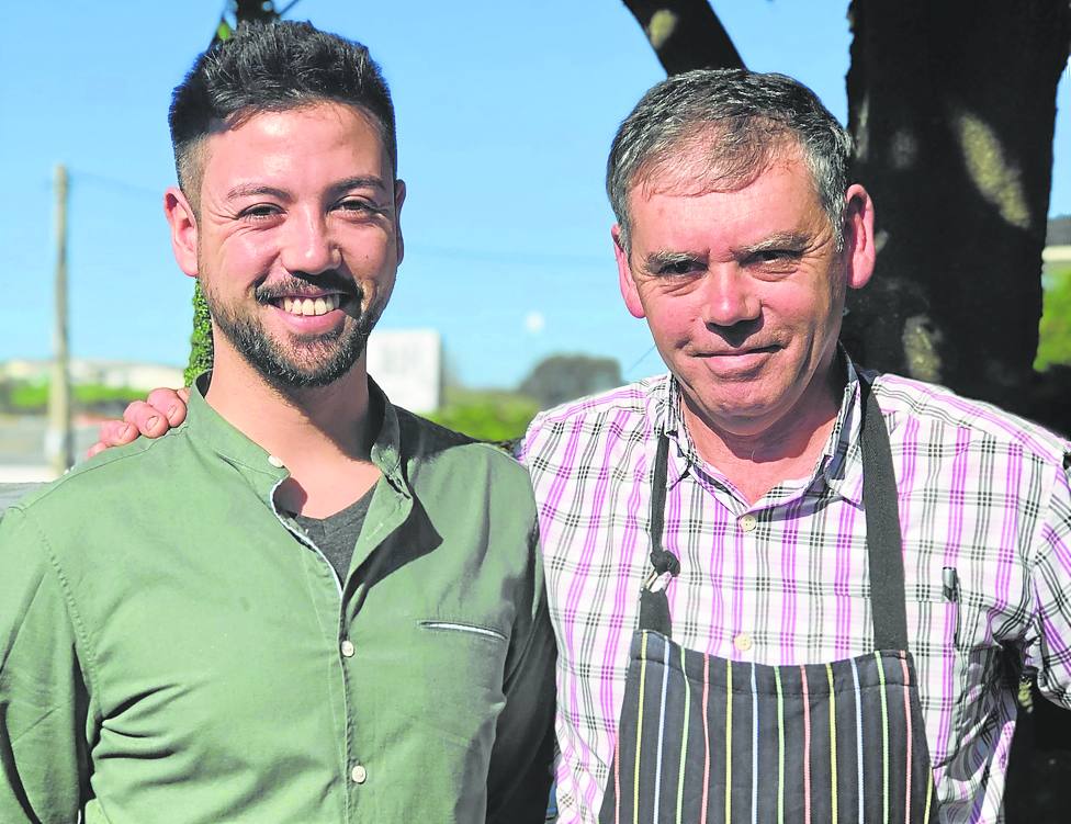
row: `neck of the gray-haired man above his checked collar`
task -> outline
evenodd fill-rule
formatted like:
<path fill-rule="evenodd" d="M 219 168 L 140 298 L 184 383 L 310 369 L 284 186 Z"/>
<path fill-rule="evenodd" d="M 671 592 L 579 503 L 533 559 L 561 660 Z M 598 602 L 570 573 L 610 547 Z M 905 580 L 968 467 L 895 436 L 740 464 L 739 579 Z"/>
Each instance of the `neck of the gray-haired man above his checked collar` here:
<path fill-rule="evenodd" d="M 754 504 L 780 483 L 804 477 L 822 454 L 839 411 L 844 375 L 834 363 L 791 409 L 755 431 L 719 427 L 683 393 L 681 413 L 699 454 Z"/>

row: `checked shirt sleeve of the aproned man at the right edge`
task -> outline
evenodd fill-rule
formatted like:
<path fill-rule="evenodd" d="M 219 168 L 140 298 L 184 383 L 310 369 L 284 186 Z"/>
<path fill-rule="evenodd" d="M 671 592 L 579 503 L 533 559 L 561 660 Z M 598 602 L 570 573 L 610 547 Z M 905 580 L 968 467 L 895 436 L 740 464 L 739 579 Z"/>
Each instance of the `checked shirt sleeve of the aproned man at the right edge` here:
<path fill-rule="evenodd" d="M 1057 471 L 1041 517 L 1031 568 L 1035 620 L 1027 637 L 1026 663 L 1037 668 L 1041 693 L 1071 709 L 1071 483 L 1067 467 Z"/>

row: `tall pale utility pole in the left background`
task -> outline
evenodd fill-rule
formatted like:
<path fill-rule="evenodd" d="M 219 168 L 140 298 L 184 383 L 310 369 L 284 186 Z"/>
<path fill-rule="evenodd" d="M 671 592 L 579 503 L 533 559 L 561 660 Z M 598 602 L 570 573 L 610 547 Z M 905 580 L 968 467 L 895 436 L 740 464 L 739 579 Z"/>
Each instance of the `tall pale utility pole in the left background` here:
<path fill-rule="evenodd" d="M 70 431 L 70 369 L 67 347 L 67 167 L 56 165 L 56 325 L 53 331 L 52 380 L 48 384 L 48 431 L 45 452 L 58 477 L 75 463 Z"/>

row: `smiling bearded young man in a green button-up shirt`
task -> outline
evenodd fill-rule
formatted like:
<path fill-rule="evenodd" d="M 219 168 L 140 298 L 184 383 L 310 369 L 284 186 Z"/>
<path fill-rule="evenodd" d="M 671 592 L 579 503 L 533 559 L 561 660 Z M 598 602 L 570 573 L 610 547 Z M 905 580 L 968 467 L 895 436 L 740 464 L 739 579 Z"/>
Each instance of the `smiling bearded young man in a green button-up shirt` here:
<path fill-rule="evenodd" d="M 403 251 L 379 68 L 243 29 L 170 125 L 214 369 L 170 438 L 0 522 L 0 821 L 542 820 L 528 476 L 365 373 Z"/>

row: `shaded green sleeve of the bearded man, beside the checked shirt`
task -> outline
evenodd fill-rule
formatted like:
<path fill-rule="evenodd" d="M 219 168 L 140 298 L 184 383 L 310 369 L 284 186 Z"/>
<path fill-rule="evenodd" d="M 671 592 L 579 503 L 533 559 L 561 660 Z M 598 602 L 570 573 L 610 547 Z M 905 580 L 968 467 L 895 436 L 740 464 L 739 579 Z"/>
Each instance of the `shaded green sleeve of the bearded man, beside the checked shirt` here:
<path fill-rule="evenodd" d="M 554 755 L 554 635 L 546 614 L 538 531 L 532 529 L 534 580 L 530 602 L 518 605 L 519 645 L 506 674 L 506 707 L 498 716 L 487 776 L 487 821 L 526 824 L 545 819 Z M 528 609 L 522 608 L 528 607 Z"/>

